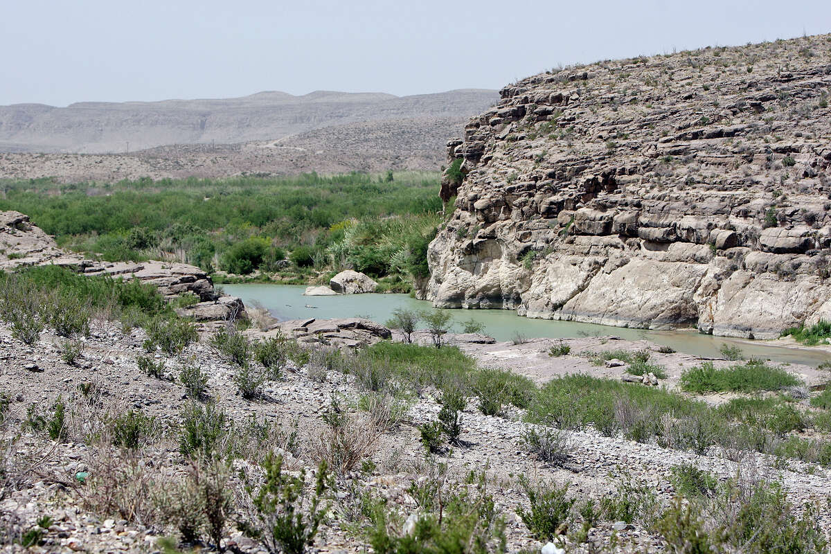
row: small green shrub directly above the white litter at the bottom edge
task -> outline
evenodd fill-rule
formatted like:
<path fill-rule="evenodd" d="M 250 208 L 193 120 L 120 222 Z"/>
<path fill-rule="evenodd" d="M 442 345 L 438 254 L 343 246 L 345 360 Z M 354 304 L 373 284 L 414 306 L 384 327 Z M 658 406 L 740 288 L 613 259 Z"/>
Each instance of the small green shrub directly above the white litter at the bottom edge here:
<path fill-rule="evenodd" d="M 550 541 L 558 535 L 558 528 L 571 520 L 574 500 L 568 498 L 568 483 L 539 483 L 532 485 L 528 478 L 519 481 L 526 496 L 529 509 L 519 507 L 517 515 L 525 527 L 539 541 Z"/>

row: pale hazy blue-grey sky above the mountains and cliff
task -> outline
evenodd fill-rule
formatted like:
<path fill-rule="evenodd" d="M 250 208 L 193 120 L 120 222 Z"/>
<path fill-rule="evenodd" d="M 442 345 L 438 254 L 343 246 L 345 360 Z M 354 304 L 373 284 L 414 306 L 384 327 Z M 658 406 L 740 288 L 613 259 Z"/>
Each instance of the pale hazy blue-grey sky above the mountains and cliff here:
<path fill-rule="evenodd" d="M 831 32 L 831 2 L 2 0 L 0 104 L 494 88 L 580 61 Z"/>

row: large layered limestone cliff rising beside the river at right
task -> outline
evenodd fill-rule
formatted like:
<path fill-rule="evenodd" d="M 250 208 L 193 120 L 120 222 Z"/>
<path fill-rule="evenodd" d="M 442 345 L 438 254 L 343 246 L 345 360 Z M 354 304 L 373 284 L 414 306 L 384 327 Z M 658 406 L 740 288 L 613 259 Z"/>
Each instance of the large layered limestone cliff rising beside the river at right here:
<path fill-rule="evenodd" d="M 448 143 L 435 306 L 756 338 L 831 319 L 831 35 L 501 96 Z"/>

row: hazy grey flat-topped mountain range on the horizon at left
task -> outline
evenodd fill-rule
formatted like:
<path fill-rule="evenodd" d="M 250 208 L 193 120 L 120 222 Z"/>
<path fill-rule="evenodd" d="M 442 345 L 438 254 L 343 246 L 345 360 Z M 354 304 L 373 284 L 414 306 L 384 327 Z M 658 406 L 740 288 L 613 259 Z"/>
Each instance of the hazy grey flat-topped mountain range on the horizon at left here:
<path fill-rule="evenodd" d="M 430 149 L 459 135 L 465 120 L 499 100 L 497 91 L 465 89 L 416 96 L 317 91 L 304 96 L 259 92 L 224 100 L 80 102 L 65 108 L 42 104 L 0 106 L 0 152 L 124 154 L 165 145 L 229 145 L 286 140 L 310 132 L 373 122 L 406 121 L 425 130 Z M 388 125 L 382 125 L 388 128 Z M 322 135 L 327 135 L 325 131 Z M 403 137 L 381 132 L 384 150 Z M 328 140 L 327 140 L 328 141 Z M 389 142 L 392 141 L 392 142 Z M 331 146 L 331 145 L 330 145 Z M 404 153 L 406 154 L 406 153 Z"/>

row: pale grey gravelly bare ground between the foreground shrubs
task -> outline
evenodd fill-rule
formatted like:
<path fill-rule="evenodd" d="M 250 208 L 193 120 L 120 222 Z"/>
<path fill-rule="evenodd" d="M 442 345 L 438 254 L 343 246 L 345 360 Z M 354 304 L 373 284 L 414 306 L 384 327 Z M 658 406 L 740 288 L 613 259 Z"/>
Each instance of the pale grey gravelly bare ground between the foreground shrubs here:
<path fill-rule="evenodd" d="M 317 322 L 318 326 L 327 324 L 337 328 L 337 323 Z M 308 326 L 308 330 L 312 331 L 311 324 Z M 333 393 L 356 399 L 359 391 L 352 383 L 352 377 L 330 372 L 321 379 L 317 373 L 312 375 L 311 366 L 298 368 L 290 365 L 279 380 L 267 385 L 262 400 L 243 400 L 234 394 L 234 366 L 207 344 L 208 333 L 209 328 L 204 327 L 202 341 L 188 346 L 179 357 L 165 359 L 162 355 L 156 355 L 157 360 L 165 362 L 165 368 L 171 375 L 176 375 L 180 365 L 186 361 L 198 364 L 209 375 L 208 395 L 238 423 L 255 416 L 291 429 L 292 423 L 297 422 L 301 449 L 297 458 L 291 458 L 292 467 L 314 467 L 316 462 L 310 447 L 324 427 L 320 416 L 329 407 Z M 317 338 L 320 336 L 317 335 Z M 145 414 L 165 422 L 167 428 L 174 426 L 180 417 L 179 409 L 185 402 L 184 388 L 175 380 L 155 379 L 137 368 L 135 360 L 142 353 L 140 345 L 143 339 L 144 331 L 140 329 L 123 333 L 116 324 L 96 321 L 91 336 L 84 340 L 81 359 L 75 365 L 68 365 L 58 353 L 58 337 L 45 332 L 37 346 L 23 346 L 12 338 L 6 326 L 0 325 L 0 390 L 12 398 L 11 417 L 22 419 L 29 404 L 49 405 L 57 395 L 72 406 L 86 405 L 79 385 L 92 383 L 96 395 L 105 399 L 104 405 L 108 409 L 116 412 L 128 408 L 141 409 Z M 597 339 L 568 342 L 575 350 L 600 350 L 605 347 Z M 645 346 L 619 342 L 615 346 L 625 349 Z M 537 348 L 538 345 L 525 349 L 512 349 L 507 345 L 496 345 L 486 350 L 483 346 L 470 344 L 463 347 L 480 355 L 483 360 L 489 360 L 494 355 L 493 348 L 518 351 Z M 556 359 L 551 373 L 573 370 L 575 357 Z M 502 360 L 505 359 L 502 356 Z M 513 367 L 532 375 L 536 371 L 527 363 Z M 538 374 L 535 376 L 541 377 Z M 401 424 L 379 439 L 369 454 L 376 463 L 376 471 L 353 476 L 356 479 L 353 487 L 371 490 L 401 507 L 404 512 L 415 509 L 415 500 L 406 493 L 406 488 L 429 471 L 425 466 L 416 425 L 435 419 L 440 406 L 433 399 L 432 393 L 426 391 L 411 405 Z M 475 400 L 471 401 L 463 414 L 462 445 L 445 453 L 441 459 L 449 463 L 450 474 L 460 478 L 472 469 L 487 473 L 489 491 L 494 494 L 497 509 L 508 522 L 510 552 L 520 548 L 538 550 L 542 546 L 529 538 L 528 530 L 515 512 L 527 503 L 517 482 L 520 475 L 571 483 L 571 493 L 583 499 L 614 493 L 622 479 L 626 479 L 646 485 L 656 493 L 662 505 L 668 505 L 673 495 L 669 478 L 674 465 L 694 463 L 721 479 L 735 477 L 739 470 L 737 463 L 724 458 L 715 449 L 706 455 L 696 455 L 661 449 L 655 444 L 602 437 L 593 431 L 568 433 L 568 459 L 562 466 L 552 467 L 538 462 L 524 448 L 522 436 L 528 424 L 520 421 L 521 411 L 509 410 L 504 417 L 484 416 L 479 414 L 475 405 Z M 93 416 L 101 417 L 101 414 L 86 414 L 88 421 L 76 420 L 72 425 L 91 431 L 96 422 Z M 0 517 L 4 525 L 13 530 L 32 527 L 43 515 L 52 516 L 54 522 L 45 534 L 45 545 L 35 548 L 35 551 L 158 552 L 156 540 L 174 532 L 170 527 L 128 522 L 117 516 L 95 512 L 82 501 L 83 489 L 76 481 L 76 473 L 101 471 L 104 467 L 101 457 L 105 453 L 99 447 L 86 444 L 80 436 L 72 435 L 66 442 L 56 444 L 44 441 L 38 434 L 28 433 L 23 436 L 18 448 L 38 456 L 38 459 L 42 458 L 42 461 L 37 465 L 37 471 L 0 504 Z M 154 468 L 156 477 L 177 475 L 186 469 L 184 459 L 177 452 L 175 439 L 170 437 L 146 445 L 138 455 L 148 469 Z M 771 458 L 749 454 L 741 462 L 741 471 L 745 476 L 778 478 L 784 483 L 789 499 L 794 502 L 820 500 L 824 506 L 824 499 L 831 495 L 828 474 L 822 470 L 809 471 L 801 463 L 789 463 L 787 468 L 782 468 L 781 464 L 774 466 Z M 332 510 L 332 515 L 337 517 L 332 517 L 322 528 L 315 545 L 317 552 L 363 552 L 363 542 L 348 532 L 342 515 L 349 503 L 355 501 L 355 489 L 348 488 L 343 480 L 340 485 L 342 488 Z M 819 517 L 826 528 L 831 528 L 831 514 L 821 512 Z M 660 538 L 637 524 L 616 528 L 611 522 L 606 522 L 593 527 L 588 544 L 572 545 L 572 552 L 581 552 L 591 545 L 607 546 L 612 533 L 617 536 L 618 549 L 623 551 L 637 548 L 640 552 L 654 552 L 660 548 Z M 243 537 L 233 525 L 224 540 L 238 552 L 263 552 L 256 542 Z M 10 547 L 10 552 L 20 550 L 15 548 Z"/>

